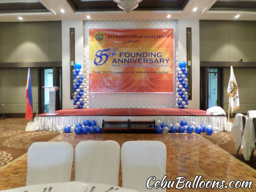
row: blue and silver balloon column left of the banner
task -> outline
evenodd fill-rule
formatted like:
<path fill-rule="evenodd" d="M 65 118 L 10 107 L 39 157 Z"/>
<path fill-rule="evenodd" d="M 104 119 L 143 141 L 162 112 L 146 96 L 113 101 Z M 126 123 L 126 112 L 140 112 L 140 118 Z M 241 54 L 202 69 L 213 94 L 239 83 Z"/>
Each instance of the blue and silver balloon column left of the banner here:
<path fill-rule="evenodd" d="M 73 69 L 73 105 L 75 109 L 83 109 L 84 106 L 84 99 L 83 99 L 83 94 L 84 94 L 84 87 L 83 87 L 83 73 L 80 71 L 81 70 L 81 63 L 76 62 L 74 64 Z"/>

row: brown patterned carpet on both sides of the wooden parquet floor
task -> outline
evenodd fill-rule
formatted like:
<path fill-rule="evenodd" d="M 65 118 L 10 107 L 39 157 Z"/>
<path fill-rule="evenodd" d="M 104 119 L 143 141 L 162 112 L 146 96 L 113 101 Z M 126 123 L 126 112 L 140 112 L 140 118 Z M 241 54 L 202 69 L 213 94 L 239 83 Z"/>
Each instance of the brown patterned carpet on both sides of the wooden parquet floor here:
<path fill-rule="evenodd" d="M 25 131 L 26 123 L 25 119 L 0 119 L 0 167 L 27 153 L 32 143 L 48 141 L 58 135 L 57 132 Z M 250 161 L 245 161 L 241 150 L 239 154 L 236 154 L 237 150 L 231 132 L 219 132 L 219 134 L 212 135 L 203 132 L 201 136 L 256 169 L 256 155 Z"/>

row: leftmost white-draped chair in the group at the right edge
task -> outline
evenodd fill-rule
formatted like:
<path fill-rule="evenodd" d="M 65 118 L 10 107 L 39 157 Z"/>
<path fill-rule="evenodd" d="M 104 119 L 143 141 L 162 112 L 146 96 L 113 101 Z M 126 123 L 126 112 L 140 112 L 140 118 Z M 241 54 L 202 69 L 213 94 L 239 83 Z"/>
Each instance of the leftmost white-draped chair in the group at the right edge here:
<path fill-rule="evenodd" d="M 243 114 L 236 114 L 234 123 L 232 125 L 231 132 L 234 135 L 235 148 L 238 150 L 240 148 L 242 137 L 243 137 Z"/>

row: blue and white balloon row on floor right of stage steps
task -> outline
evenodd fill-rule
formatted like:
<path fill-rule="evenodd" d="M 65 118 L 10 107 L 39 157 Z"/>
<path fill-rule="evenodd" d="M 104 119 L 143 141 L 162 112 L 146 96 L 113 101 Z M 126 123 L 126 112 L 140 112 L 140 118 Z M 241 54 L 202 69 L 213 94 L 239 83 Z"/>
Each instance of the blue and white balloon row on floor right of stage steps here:
<path fill-rule="evenodd" d="M 193 133 L 196 132 L 197 134 L 200 134 L 201 132 L 205 132 L 208 135 L 211 135 L 212 133 L 219 133 L 219 127 L 215 126 L 214 128 L 212 128 L 212 125 L 197 125 L 196 122 L 191 122 L 190 125 L 188 125 L 188 123 L 183 120 L 180 123 L 162 123 L 160 120 L 156 121 L 156 132 L 157 134 L 161 134 L 161 133 Z"/>

